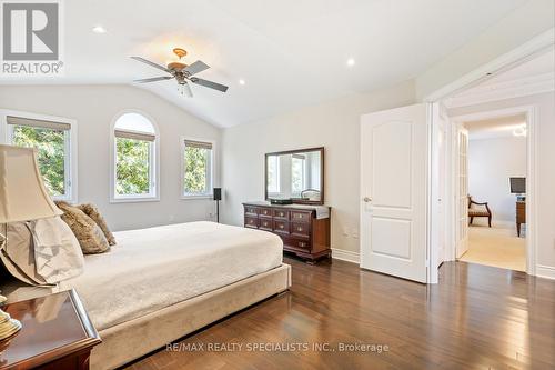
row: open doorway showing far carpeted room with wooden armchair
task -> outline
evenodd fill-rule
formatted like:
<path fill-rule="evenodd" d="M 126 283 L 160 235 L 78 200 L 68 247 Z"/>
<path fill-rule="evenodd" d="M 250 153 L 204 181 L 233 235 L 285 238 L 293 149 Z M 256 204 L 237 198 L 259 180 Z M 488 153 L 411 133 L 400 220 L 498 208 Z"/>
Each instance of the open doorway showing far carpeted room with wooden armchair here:
<path fill-rule="evenodd" d="M 458 196 L 467 206 L 467 240 L 456 258 L 526 271 L 526 116 L 468 120 L 462 126 L 467 142 L 458 178 L 467 192 Z"/>

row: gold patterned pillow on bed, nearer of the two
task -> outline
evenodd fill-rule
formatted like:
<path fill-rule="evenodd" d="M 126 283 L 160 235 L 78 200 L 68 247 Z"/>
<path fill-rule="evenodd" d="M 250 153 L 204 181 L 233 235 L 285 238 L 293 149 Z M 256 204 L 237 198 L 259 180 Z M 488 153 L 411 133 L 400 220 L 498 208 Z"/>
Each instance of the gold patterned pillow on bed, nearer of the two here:
<path fill-rule="evenodd" d="M 79 208 L 67 202 L 57 201 L 56 206 L 63 211 L 62 220 L 69 224 L 79 240 L 84 254 L 103 253 L 110 250 L 110 244 L 102 229 Z"/>

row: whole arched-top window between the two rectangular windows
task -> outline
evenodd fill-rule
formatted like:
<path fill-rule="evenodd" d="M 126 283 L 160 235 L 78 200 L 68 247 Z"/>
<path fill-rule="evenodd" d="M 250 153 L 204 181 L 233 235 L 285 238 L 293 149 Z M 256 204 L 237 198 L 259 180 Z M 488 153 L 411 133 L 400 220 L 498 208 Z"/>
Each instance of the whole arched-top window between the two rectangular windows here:
<path fill-rule="evenodd" d="M 112 201 L 157 200 L 158 137 L 143 114 L 121 114 L 113 126 Z"/>

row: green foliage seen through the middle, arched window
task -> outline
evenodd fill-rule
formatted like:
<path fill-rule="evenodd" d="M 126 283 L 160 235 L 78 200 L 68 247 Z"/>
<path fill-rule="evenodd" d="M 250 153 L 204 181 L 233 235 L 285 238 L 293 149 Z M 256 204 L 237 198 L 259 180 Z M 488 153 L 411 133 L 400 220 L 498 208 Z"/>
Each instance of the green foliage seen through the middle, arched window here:
<path fill-rule="evenodd" d="M 150 141 L 115 138 L 115 192 L 148 194 L 150 192 Z"/>

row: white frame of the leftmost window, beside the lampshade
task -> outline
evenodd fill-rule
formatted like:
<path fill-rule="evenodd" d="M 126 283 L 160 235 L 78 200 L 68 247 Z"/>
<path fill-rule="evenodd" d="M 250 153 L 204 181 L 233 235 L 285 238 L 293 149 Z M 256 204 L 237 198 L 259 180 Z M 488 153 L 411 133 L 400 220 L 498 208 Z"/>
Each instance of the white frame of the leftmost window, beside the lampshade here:
<path fill-rule="evenodd" d="M 77 120 L 67 117 L 47 116 L 17 110 L 0 110 L 0 142 L 12 144 L 13 128 L 8 124 L 8 116 L 27 118 L 31 120 L 52 121 L 70 126 L 69 134 L 64 136 L 64 188 L 63 196 L 51 196 L 53 200 L 63 200 L 70 203 L 78 202 L 78 123 Z"/>

